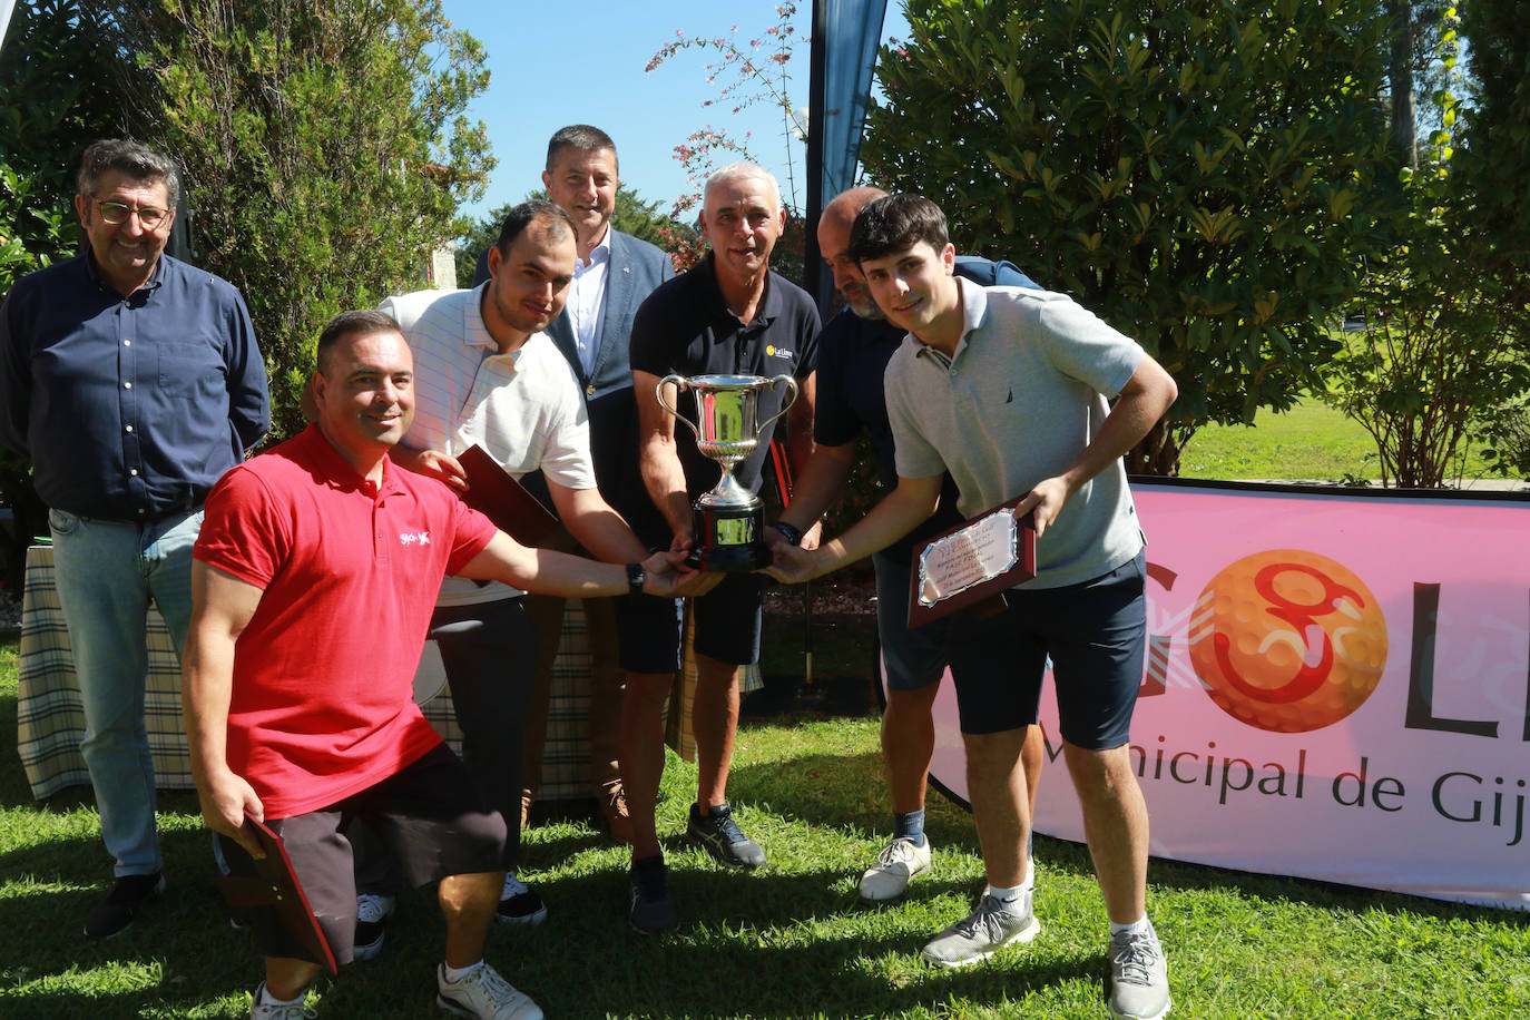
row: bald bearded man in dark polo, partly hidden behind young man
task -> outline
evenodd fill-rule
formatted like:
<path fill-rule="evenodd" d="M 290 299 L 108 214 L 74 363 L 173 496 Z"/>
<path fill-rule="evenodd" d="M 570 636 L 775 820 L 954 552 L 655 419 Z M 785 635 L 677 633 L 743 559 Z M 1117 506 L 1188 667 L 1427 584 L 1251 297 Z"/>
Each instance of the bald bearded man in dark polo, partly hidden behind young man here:
<path fill-rule="evenodd" d="M 845 309 L 829 320 L 819 336 L 819 404 L 812 419 L 815 445 L 812 459 L 797 473 L 791 506 L 782 511 L 774 529 L 767 529 L 773 544 L 799 544 L 802 534 L 845 492 L 861 431 L 871 437 L 877 477 L 889 491 L 898 488 L 881 376 L 892 352 L 903 343 L 904 330 L 887 323 L 866 291 L 860 266 L 846 252 L 855 216 L 884 194 L 880 188 L 851 188 L 829 202 L 819 219 L 819 251 L 834 272 L 834 286 L 845 300 Z M 981 286 L 1036 287 L 1030 277 L 1007 261 L 959 257 L 956 275 Z M 956 485 L 947 476 L 939 506 L 929 521 L 872 557 L 877 569 L 877 633 L 887 682 L 881 754 L 892 794 L 894 832 L 877 861 L 861 875 L 860 895 L 871 902 L 903 896 L 909 881 L 930 867 L 924 791 L 935 754 L 932 708 L 950 659 L 950 619 L 909 630 L 909 561 L 918 541 L 961 520 Z M 1042 731 L 1031 726 L 1022 765 L 1033 812 L 1043 757 Z M 1033 879 L 1034 875 L 1027 875 L 1027 884 Z"/>

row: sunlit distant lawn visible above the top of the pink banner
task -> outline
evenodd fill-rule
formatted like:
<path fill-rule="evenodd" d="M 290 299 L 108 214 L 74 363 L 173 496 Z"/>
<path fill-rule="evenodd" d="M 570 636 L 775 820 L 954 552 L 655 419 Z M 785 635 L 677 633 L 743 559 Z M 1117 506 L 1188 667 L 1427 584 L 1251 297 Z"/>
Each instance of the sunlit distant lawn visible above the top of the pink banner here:
<path fill-rule="evenodd" d="M 1314 399 L 1284 414 L 1259 411 L 1253 425 L 1207 425 L 1180 456 L 1186 479 L 1379 479 L 1375 440 L 1359 424 Z M 1467 457 L 1464 479 L 1487 477 Z"/>

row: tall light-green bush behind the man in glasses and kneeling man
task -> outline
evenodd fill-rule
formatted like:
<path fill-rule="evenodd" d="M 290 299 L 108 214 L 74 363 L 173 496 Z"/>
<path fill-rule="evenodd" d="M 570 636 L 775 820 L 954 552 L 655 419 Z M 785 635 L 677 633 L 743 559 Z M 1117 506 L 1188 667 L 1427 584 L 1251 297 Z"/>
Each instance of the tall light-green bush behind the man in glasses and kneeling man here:
<path fill-rule="evenodd" d="M 181 161 L 199 263 L 249 303 L 272 437 L 301 427 L 314 344 L 337 312 L 424 286 L 459 202 L 493 167 L 462 112 L 483 49 L 439 0 L 130 0 Z"/>

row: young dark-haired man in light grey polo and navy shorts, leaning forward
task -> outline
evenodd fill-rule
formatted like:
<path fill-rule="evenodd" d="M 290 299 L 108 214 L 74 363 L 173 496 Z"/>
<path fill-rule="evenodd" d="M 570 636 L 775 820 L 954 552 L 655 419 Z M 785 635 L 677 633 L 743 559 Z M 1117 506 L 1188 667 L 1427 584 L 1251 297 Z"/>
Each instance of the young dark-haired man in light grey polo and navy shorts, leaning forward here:
<path fill-rule="evenodd" d="M 955 278 L 946 217 L 927 199 L 868 205 L 849 254 L 887 321 L 909 330 L 884 379 L 898 488 L 817 551 L 777 549 L 771 573 L 802 581 L 887 546 L 930 514 L 942 471 L 965 517 L 1024 497 L 1017 514 L 1036 518 L 1036 577 L 1005 593 L 1002 612 L 964 612 L 953 624 L 950 670 L 988 888 L 923 956 L 961 966 L 1040 928 L 1024 887 L 1019 760 L 1050 656 L 1111 922 L 1109 1008 L 1157 1020 L 1169 1011 L 1169 979 L 1148 919 L 1148 810 L 1128 752 L 1146 647 L 1143 535 L 1121 454 L 1174 402 L 1174 379 L 1065 295 Z"/>

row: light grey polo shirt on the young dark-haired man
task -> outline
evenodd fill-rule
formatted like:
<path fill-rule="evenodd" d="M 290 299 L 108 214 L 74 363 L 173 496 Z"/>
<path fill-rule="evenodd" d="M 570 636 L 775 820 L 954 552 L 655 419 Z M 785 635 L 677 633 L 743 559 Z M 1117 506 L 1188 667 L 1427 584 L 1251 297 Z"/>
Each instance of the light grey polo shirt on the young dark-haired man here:
<path fill-rule="evenodd" d="M 912 333 L 887 362 L 887 417 L 898 474 L 950 471 L 958 508 L 975 517 L 1062 474 L 1100 431 L 1106 398 L 1126 385 L 1143 349 L 1073 298 L 956 278 L 962 336 L 956 356 Z M 1036 578 L 1022 587 L 1079 584 L 1143 547 L 1120 459 L 1069 497 L 1036 543 Z"/>

